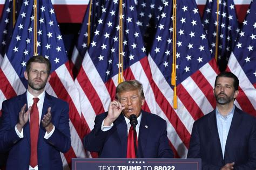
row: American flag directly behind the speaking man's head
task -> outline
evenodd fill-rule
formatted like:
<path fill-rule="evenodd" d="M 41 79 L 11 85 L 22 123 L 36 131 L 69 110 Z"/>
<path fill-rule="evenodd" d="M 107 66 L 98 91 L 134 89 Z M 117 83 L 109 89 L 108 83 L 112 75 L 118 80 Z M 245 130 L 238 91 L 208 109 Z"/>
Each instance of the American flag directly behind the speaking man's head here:
<path fill-rule="evenodd" d="M 142 67 L 147 63 L 146 49 L 137 23 L 134 1 L 123 1 L 123 65 L 119 64 L 119 2 L 106 1 L 102 7 L 91 44 L 85 53 L 82 67 L 76 79 L 82 114 L 89 133 L 93 129 L 95 116 L 107 111 L 114 99 L 118 84 L 118 68 L 123 67 L 124 79 L 137 79 L 144 85 L 147 94 L 150 85 Z M 148 66 L 148 65 L 147 65 Z M 147 68 L 147 71 L 150 71 Z M 147 102 L 153 102 L 154 98 Z M 150 111 L 147 104 L 144 110 Z"/>

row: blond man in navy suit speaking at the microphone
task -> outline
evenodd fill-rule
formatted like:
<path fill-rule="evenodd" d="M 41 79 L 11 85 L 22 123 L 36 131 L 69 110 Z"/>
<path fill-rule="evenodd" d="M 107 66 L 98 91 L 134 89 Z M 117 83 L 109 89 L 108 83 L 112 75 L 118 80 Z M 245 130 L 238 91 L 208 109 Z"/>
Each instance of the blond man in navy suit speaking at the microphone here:
<path fill-rule="evenodd" d="M 84 137 L 86 150 L 98 152 L 100 158 L 132 158 L 128 157 L 127 140 L 131 127 L 129 117 L 135 115 L 137 158 L 173 158 L 166 121 L 142 110 L 145 103 L 142 84 L 136 80 L 120 83 L 116 98 L 108 112 L 96 116 L 93 130 Z"/>

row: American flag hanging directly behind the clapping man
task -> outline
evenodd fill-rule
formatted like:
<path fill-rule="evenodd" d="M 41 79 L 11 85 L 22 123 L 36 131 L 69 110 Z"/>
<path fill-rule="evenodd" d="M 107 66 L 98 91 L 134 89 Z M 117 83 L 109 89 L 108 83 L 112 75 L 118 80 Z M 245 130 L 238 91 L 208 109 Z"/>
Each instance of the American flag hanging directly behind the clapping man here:
<path fill-rule="evenodd" d="M 36 15 L 34 8 L 37 9 Z M 35 20 L 37 30 L 34 30 Z M 51 80 L 46 84 L 46 91 L 69 103 L 71 149 L 61 154 L 64 167 L 68 168 L 68 165 L 71 165 L 71 158 L 85 157 L 81 140 L 84 132 L 81 125 L 78 91 L 71 76 L 62 35 L 50 0 L 37 0 L 37 5 L 34 1 L 23 1 L 8 51 L 2 61 L 1 89 L 4 89 L 3 94 L 6 98 L 26 91 L 28 84 L 23 73 L 26 61 L 36 53 L 33 46 L 34 32 L 37 34 L 37 53 L 48 58 L 52 65 Z"/>

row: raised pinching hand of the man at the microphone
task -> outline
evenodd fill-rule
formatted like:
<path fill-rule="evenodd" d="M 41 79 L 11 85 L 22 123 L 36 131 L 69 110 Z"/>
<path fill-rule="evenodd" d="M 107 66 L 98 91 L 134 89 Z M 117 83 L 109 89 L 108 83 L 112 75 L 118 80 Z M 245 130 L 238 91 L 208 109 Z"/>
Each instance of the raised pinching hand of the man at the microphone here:
<path fill-rule="evenodd" d="M 109 105 L 109 112 L 104 121 L 104 126 L 111 125 L 125 109 L 124 104 L 118 101 L 112 101 Z"/>

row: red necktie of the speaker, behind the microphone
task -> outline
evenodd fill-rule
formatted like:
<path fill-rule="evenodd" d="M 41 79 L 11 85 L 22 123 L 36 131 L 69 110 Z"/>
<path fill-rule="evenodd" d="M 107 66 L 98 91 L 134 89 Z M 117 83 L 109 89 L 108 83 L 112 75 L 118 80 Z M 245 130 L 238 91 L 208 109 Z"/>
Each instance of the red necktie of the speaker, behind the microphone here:
<path fill-rule="evenodd" d="M 138 147 L 137 134 L 136 134 L 136 146 Z M 128 133 L 126 158 L 136 158 L 135 148 L 134 148 L 134 138 L 133 138 L 133 126 L 131 126 Z"/>

